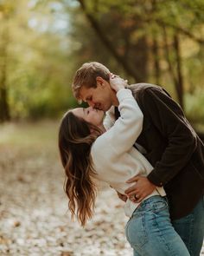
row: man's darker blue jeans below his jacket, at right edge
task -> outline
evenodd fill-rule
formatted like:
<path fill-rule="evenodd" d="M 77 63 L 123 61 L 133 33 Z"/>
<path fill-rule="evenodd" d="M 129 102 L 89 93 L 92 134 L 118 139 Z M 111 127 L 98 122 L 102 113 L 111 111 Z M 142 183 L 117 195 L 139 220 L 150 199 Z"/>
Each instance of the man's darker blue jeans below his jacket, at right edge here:
<path fill-rule="evenodd" d="M 175 231 L 180 235 L 191 256 L 199 256 L 204 237 L 204 196 L 194 210 L 179 220 L 172 220 Z"/>

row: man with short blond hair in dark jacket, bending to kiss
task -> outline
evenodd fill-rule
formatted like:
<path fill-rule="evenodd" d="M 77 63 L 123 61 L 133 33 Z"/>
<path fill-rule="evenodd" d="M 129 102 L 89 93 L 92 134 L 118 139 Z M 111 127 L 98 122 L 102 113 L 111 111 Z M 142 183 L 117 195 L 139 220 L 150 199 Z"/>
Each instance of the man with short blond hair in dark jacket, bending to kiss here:
<path fill-rule="evenodd" d="M 99 62 L 89 62 L 73 78 L 77 99 L 108 111 L 106 128 L 119 115 L 116 93 L 109 84 L 110 74 Z M 137 176 L 128 181 L 135 185 L 126 193 L 140 202 L 156 186 L 163 186 L 176 232 L 189 253 L 199 256 L 204 236 L 204 145 L 182 108 L 166 91 L 148 83 L 132 84 L 130 89 L 143 112 L 143 131 L 136 145 L 154 169 L 147 177 Z"/>

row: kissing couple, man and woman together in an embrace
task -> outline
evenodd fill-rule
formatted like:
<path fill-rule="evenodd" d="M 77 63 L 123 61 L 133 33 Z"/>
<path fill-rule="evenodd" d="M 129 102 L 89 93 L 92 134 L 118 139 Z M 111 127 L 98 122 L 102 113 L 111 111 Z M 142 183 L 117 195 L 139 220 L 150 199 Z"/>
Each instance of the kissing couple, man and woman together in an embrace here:
<path fill-rule="evenodd" d="M 99 62 L 73 78 L 89 108 L 67 111 L 59 130 L 65 191 L 82 226 L 97 180 L 125 201 L 134 256 L 199 256 L 204 236 L 204 145 L 161 87 L 128 85 Z"/>

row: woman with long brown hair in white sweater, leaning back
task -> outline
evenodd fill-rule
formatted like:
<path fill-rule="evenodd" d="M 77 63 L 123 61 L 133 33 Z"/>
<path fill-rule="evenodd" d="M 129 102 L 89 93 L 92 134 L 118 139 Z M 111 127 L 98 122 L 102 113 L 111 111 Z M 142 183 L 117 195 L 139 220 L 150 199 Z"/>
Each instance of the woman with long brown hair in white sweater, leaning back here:
<path fill-rule="evenodd" d="M 146 176 L 152 170 L 150 163 L 132 147 L 142 129 L 143 114 L 131 90 L 124 89 L 124 80 L 110 78 L 110 85 L 117 92 L 120 111 L 112 128 L 105 131 L 104 112 L 89 107 L 69 110 L 59 131 L 69 209 L 72 216 L 77 215 L 82 226 L 92 217 L 96 180 L 105 181 L 118 193 L 124 194 L 128 187 L 126 180 L 136 174 Z M 170 223 L 164 195 L 163 187 L 156 187 L 139 204 L 129 199 L 125 202 L 124 211 L 130 217 L 125 228 L 126 236 L 135 256 L 189 256 Z"/>

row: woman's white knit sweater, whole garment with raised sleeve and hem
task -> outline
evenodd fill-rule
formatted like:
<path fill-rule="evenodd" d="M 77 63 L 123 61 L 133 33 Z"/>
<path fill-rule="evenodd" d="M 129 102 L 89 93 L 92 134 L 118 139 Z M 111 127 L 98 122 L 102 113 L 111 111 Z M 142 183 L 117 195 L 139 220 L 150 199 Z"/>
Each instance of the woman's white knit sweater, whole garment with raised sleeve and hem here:
<path fill-rule="evenodd" d="M 131 94 L 130 89 L 120 89 L 117 93 L 120 117 L 112 128 L 100 135 L 92 145 L 92 161 L 99 181 L 107 182 L 120 194 L 133 184 L 125 181 L 134 175 L 147 176 L 153 167 L 143 154 L 133 147 L 143 128 L 143 113 Z M 152 195 L 165 195 L 163 187 L 156 187 Z M 127 200 L 124 213 L 131 214 L 139 204 Z"/>

